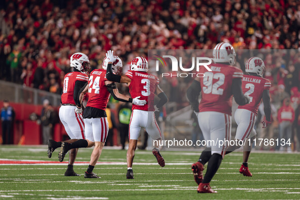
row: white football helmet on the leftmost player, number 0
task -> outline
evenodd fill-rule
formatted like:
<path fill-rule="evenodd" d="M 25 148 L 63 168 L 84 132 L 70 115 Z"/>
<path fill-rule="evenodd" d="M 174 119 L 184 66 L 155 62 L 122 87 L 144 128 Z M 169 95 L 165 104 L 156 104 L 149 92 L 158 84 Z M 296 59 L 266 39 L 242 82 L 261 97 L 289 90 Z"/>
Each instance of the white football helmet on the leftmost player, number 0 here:
<path fill-rule="evenodd" d="M 80 52 L 70 57 L 70 65 L 82 73 L 88 73 L 91 68 L 87 55 Z"/>

